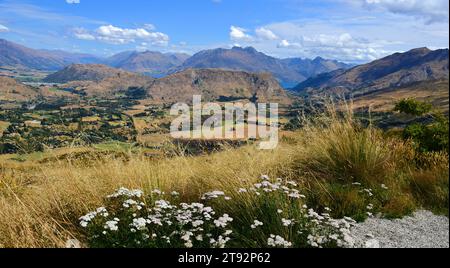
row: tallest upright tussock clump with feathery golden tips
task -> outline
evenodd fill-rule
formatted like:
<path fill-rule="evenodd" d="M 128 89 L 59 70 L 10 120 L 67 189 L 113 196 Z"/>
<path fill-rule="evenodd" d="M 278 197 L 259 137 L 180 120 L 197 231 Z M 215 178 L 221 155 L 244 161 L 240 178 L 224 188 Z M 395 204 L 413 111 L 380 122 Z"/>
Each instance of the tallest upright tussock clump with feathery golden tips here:
<path fill-rule="evenodd" d="M 296 168 L 327 180 L 384 182 L 397 165 L 396 154 L 403 153 L 397 141 L 361 127 L 351 112 L 328 110 L 328 115 L 309 120 L 301 133 L 304 152 Z"/>

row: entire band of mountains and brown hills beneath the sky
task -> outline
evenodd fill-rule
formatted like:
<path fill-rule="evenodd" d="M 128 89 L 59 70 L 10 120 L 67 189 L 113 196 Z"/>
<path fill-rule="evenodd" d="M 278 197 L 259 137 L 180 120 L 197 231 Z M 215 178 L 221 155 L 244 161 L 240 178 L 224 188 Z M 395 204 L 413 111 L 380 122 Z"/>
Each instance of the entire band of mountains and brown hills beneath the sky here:
<path fill-rule="evenodd" d="M 448 85 L 449 80 L 448 49 L 417 48 L 351 68 L 320 57 L 277 59 L 251 47 L 204 50 L 192 57 L 147 51 L 99 59 L 86 54 L 33 50 L 0 40 L 0 52 L 0 66 L 60 68 L 44 82 L 63 84 L 74 92 L 114 98 L 132 88 L 145 91 L 145 98 L 163 102 L 189 101 L 192 94 L 202 94 L 210 100 L 256 98 L 286 103 L 289 96 L 280 91 L 280 84 L 286 87 L 297 80 L 300 83 L 292 91 L 300 95 L 339 93 L 354 98 L 378 96 L 399 88 L 405 91 L 410 85 L 417 88 L 433 81 Z M 72 61 L 79 63 L 68 65 Z M 20 92 L 26 97 L 36 93 L 13 80 L 3 79 L 2 83 L 2 94 L 9 99 Z"/>

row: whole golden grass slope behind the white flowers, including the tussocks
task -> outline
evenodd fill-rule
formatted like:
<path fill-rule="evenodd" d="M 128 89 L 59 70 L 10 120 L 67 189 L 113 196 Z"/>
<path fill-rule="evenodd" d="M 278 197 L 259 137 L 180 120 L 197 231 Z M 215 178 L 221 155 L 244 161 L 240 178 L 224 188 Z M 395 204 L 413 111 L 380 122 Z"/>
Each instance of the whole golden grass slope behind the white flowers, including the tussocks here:
<path fill-rule="evenodd" d="M 447 154 L 418 154 L 409 142 L 331 113 L 283 135 L 273 151 L 248 145 L 162 160 L 130 153 L 126 161 L 0 162 L 0 247 L 64 247 L 68 239 L 84 240 L 79 217 L 120 187 L 177 191 L 184 202 L 220 190 L 231 197 L 223 206 L 240 219 L 255 219 L 254 203 L 237 190 L 262 174 L 296 181 L 308 207 L 331 208 L 333 217 L 400 217 L 418 207 L 448 213 Z"/>

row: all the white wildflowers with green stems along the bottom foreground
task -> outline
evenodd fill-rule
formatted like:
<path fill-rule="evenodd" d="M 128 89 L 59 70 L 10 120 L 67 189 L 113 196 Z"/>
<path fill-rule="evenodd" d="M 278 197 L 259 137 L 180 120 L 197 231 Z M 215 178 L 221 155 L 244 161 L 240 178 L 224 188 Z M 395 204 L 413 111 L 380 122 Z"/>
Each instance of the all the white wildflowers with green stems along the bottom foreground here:
<path fill-rule="evenodd" d="M 355 222 L 350 218 L 333 219 L 329 208 L 324 208 L 324 213 L 320 214 L 308 208 L 304 204 L 306 196 L 302 192 L 295 181 L 280 178 L 271 180 L 269 176 L 263 175 L 260 182 L 249 188 L 238 189 L 235 194 L 256 195 L 252 200 L 270 203 L 270 209 L 274 208 L 273 213 L 278 219 L 263 222 L 260 220 L 264 215 L 255 215 L 259 219 L 246 226 L 255 234 L 265 235 L 263 242 L 267 238 L 269 247 L 353 247 L 355 242 L 350 228 Z M 156 189 L 144 196 L 140 190 L 121 188 L 108 196 L 106 207 L 81 217 L 80 225 L 86 229 L 91 241 L 104 247 L 224 248 L 229 244 L 232 229 L 236 228 L 234 225 L 240 223 L 238 220 L 226 213 L 219 215 L 213 208 L 216 202 L 208 203 L 211 206 L 179 203 L 176 201 L 178 197 L 178 192 L 166 195 Z M 225 192 L 218 190 L 201 197 L 205 202 L 221 198 L 231 199 Z M 370 211 L 373 207 L 369 204 L 367 209 Z M 261 228 L 265 225 L 267 228 Z M 266 229 L 272 227 L 278 228 L 280 232 L 264 234 Z M 118 240 L 123 237 L 127 239 Z"/>

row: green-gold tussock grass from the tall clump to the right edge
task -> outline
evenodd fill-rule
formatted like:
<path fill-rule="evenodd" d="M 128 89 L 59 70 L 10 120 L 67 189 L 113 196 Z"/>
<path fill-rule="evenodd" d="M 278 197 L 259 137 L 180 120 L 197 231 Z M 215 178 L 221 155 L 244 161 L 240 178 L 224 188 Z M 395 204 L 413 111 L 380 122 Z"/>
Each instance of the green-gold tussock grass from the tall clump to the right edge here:
<path fill-rule="evenodd" d="M 362 127 L 351 112 L 331 108 L 305 122 L 292 170 L 309 189 L 310 205 L 358 221 L 379 213 L 402 217 L 420 206 L 448 210 L 448 178 L 441 175 L 448 174 L 447 154 L 424 156 L 410 141 Z M 428 179 L 420 186 L 415 181 L 424 172 L 441 182 Z"/>

